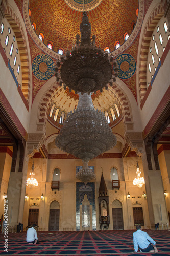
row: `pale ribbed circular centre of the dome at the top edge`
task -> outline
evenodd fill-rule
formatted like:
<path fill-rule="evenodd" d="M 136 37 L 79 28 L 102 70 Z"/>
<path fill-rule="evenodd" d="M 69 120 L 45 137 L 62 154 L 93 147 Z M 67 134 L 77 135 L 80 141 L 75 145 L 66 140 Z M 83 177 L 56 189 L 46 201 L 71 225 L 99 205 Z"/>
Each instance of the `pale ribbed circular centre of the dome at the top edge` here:
<path fill-rule="evenodd" d="M 82 12 L 84 10 L 84 0 L 64 0 L 65 3 L 75 11 Z M 100 5 L 102 0 L 86 0 L 85 9 L 86 11 L 92 11 Z"/>

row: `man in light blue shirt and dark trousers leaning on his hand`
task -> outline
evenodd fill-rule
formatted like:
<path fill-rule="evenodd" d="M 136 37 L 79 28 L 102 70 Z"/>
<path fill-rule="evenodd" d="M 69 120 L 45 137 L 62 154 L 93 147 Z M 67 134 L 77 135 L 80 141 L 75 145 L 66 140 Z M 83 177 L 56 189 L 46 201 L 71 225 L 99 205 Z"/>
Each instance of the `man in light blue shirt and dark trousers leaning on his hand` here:
<path fill-rule="evenodd" d="M 148 236 L 146 232 L 141 230 L 141 226 L 136 226 L 137 231 L 133 233 L 133 244 L 135 252 L 138 251 L 138 246 L 141 252 L 158 252 L 155 244 L 156 242 Z"/>

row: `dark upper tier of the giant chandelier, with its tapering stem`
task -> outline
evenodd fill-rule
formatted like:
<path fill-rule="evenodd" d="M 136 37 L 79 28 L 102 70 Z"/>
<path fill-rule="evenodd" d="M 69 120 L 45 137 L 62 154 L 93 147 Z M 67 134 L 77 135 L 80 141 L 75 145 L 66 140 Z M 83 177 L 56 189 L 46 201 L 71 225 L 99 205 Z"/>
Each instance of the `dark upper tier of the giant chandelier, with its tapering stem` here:
<path fill-rule="evenodd" d="M 112 86 L 118 76 L 117 63 L 107 51 L 95 46 L 95 35 L 91 39 L 91 24 L 87 12 L 83 12 L 80 36 L 76 36 L 76 47 L 67 51 L 55 66 L 55 76 L 60 86 L 69 87 L 75 93 L 90 93 Z"/>

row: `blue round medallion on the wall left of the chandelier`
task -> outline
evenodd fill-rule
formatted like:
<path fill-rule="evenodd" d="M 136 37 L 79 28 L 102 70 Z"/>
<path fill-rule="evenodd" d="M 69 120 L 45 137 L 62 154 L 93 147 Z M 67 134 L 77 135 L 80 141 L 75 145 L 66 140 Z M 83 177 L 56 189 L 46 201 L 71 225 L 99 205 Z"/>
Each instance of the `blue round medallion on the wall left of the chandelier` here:
<path fill-rule="evenodd" d="M 47 55 L 38 55 L 32 65 L 34 75 L 40 80 L 48 80 L 54 75 L 54 62 Z"/>

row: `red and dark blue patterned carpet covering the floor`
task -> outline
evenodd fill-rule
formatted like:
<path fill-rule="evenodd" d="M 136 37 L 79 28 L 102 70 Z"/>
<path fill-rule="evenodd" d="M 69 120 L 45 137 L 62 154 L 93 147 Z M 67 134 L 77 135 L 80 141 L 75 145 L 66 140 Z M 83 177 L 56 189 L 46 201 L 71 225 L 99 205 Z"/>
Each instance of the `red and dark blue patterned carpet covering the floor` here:
<path fill-rule="evenodd" d="M 140 256 L 170 255 L 170 231 L 145 230 L 156 241 L 158 253 Z M 132 255 L 134 230 L 38 232 L 39 244 L 26 243 L 26 232 L 8 234 L 8 252 L 4 251 L 4 235 L 0 234 L 0 255 L 60 255 L 60 256 L 128 256 Z M 136 255 L 136 254 L 133 254 Z"/>

